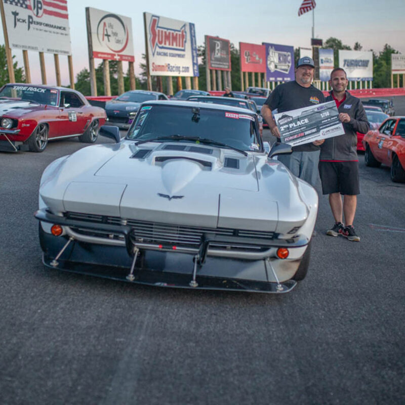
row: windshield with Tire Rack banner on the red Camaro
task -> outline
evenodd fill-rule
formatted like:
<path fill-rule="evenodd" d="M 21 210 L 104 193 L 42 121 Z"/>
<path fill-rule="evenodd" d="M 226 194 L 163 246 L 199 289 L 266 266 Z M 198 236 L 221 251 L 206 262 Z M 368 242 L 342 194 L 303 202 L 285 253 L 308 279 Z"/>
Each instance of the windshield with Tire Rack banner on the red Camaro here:
<path fill-rule="evenodd" d="M 17 98 L 37 104 L 57 105 L 58 91 L 39 86 L 8 85 L 0 92 L 0 98 Z"/>

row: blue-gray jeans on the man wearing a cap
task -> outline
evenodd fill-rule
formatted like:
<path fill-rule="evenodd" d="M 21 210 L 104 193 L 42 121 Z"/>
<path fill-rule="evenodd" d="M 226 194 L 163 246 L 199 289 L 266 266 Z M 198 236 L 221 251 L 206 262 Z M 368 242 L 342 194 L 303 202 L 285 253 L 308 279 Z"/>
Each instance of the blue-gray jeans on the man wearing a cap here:
<path fill-rule="evenodd" d="M 318 179 L 320 150 L 313 152 L 293 152 L 291 155 L 278 155 L 278 161 L 287 166 L 294 176 L 315 187 Z"/>

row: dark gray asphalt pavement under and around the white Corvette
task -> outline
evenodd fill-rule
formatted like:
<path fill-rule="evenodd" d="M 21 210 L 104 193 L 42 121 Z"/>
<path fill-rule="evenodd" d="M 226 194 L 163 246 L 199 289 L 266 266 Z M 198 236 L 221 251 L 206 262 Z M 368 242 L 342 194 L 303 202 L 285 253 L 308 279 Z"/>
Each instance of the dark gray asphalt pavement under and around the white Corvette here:
<path fill-rule="evenodd" d="M 320 197 L 291 293 L 174 290 L 42 264 L 39 179 L 81 147 L 0 153 L 1 404 L 405 403 L 405 184 L 388 168 L 359 156 L 360 242 L 325 234 Z"/>

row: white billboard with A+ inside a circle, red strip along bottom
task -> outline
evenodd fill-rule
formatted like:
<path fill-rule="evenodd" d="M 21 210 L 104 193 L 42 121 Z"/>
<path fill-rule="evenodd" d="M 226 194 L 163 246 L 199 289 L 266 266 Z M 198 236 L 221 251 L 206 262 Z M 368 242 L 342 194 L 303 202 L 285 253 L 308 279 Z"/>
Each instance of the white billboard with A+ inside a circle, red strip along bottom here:
<path fill-rule="evenodd" d="M 88 7 L 93 58 L 134 62 L 132 20 Z"/>

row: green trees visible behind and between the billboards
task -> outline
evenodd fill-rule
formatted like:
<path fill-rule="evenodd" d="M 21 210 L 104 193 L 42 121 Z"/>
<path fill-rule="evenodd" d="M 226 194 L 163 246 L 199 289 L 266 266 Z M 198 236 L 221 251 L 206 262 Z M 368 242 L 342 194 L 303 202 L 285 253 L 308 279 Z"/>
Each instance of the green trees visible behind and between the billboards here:
<path fill-rule="evenodd" d="M 354 50 L 361 51 L 362 46 L 356 42 L 351 48 L 348 45 L 342 43 L 342 41 L 335 37 L 328 38 L 323 44 L 322 48 L 333 49 L 335 55 L 335 67 L 338 67 L 338 55 L 339 50 Z M 374 88 L 388 88 L 391 86 L 391 54 L 399 53 L 394 48 L 388 44 L 384 45 L 384 48 L 380 52 L 373 52 L 373 87 Z M 198 88 L 200 90 L 207 89 L 206 83 L 206 60 L 205 60 L 205 45 L 198 47 L 198 56 L 200 64 L 198 65 L 199 78 L 198 78 Z M 297 62 L 299 57 L 299 49 L 294 51 L 295 62 Z M 15 56 L 13 56 L 13 59 Z M 24 69 L 18 66 L 17 62 L 13 61 L 14 74 L 16 77 L 16 82 L 24 82 Z M 233 90 L 240 90 L 240 55 L 239 50 L 231 44 L 231 82 Z M 114 60 L 109 61 L 110 68 L 110 86 L 111 94 L 118 94 L 118 73 L 117 73 L 117 62 Z M 142 57 L 140 63 L 141 74 L 136 76 L 136 88 L 146 90 L 147 89 L 147 75 L 146 75 L 146 62 L 145 55 Z M 152 76 L 152 88 L 153 90 L 159 90 L 163 88 L 163 91 L 166 92 L 168 77 L 162 77 L 158 79 L 156 76 Z M 172 78 L 173 88 L 176 89 L 176 77 Z M 6 59 L 6 49 L 4 45 L 0 46 L 0 86 L 9 83 L 9 73 L 7 69 L 7 59 Z M 103 95 L 104 93 L 104 80 L 103 80 L 103 63 L 101 62 L 96 68 L 96 83 L 97 83 L 97 94 Z M 185 88 L 185 79 L 182 78 L 183 88 Z M 257 83 L 257 80 L 256 80 Z M 124 88 L 126 90 L 130 89 L 130 78 L 129 71 L 124 74 Z M 76 74 L 75 89 L 83 93 L 85 96 L 90 96 L 90 72 L 89 69 L 84 68 Z"/>

